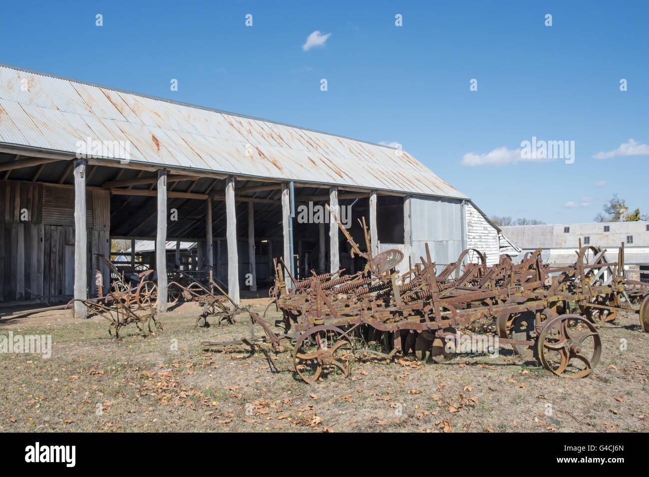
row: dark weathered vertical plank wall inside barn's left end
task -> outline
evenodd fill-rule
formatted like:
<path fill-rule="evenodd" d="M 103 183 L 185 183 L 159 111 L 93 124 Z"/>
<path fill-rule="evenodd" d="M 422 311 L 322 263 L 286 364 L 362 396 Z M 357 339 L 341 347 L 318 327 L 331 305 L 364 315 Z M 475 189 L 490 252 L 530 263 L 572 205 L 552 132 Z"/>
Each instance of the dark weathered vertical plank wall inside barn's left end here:
<path fill-rule="evenodd" d="M 88 290 L 93 297 L 96 254 L 110 252 L 110 195 L 93 190 L 88 197 Z M 0 214 L 0 302 L 29 300 L 32 293 L 72 295 L 74 189 L 0 180 Z M 107 287 L 108 269 L 99 266 Z"/>

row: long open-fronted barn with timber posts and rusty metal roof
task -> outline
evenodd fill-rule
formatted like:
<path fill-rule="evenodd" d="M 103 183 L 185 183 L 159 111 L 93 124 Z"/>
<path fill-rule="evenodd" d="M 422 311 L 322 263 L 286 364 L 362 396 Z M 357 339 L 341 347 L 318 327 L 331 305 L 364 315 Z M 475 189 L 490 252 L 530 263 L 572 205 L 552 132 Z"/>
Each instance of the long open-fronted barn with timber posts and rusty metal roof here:
<path fill-rule="evenodd" d="M 182 242 L 195 244 L 195 273 L 212 270 L 236 302 L 269 286 L 276 257 L 293 257 L 296 279 L 354 271 L 325 204 L 361 247 L 364 218 L 374 254 L 402 250 L 402 271 L 425 243 L 437 263 L 470 247 L 489 263 L 517 253 L 469 196 L 401 149 L 8 65 L 0 174 L 5 303 L 94 297 L 114 240 L 132 251 L 153 241 L 160 310 Z"/>

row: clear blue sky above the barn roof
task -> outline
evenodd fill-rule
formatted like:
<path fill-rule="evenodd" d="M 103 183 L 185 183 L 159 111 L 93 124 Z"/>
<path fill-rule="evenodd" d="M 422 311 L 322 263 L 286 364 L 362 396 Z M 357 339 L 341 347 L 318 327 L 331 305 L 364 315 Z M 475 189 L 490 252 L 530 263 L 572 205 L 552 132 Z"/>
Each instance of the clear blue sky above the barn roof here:
<path fill-rule="evenodd" d="M 5 2 L 0 62 L 395 141 L 486 214 L 588 222 L 613 193 L 649 214 L 648 14 L 646 1 Z M 304 51 L 314 31 L 330 36 Z M 516 160 L 533 136 L 574 141 L 574 164 Z M 486 158 L 504 165 L 463 165 L 498 148 Z"/>

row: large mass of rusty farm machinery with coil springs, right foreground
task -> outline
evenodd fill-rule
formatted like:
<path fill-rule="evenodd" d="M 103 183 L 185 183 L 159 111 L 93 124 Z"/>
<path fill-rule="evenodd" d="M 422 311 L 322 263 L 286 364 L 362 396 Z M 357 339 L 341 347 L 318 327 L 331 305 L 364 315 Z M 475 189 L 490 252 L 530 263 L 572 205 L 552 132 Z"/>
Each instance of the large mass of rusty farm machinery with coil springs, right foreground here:
<path fill-rule="evenodd" d="M 371 250 L 364 219 L 361 226 L 365 249 Z M 279 350 L 288 340 L 295 372 L 312 383 L 331 373 L 347 376 L 359 342 L 369 345 L 362 352 L 386 358 L 402 353 L 444 361 L 467 336 L 461 330 L 486 321 L 496 332 L 477 336 L 483 343 L 510 345 L 557 376 L 582 378 L 600 360 L 599 322 L 612 321 L 618 312 L 637 313 L 649 332 L 649 290 L 624 278 L 623 244 L 615 262 L 607 260 L 606 251 L 580 247 L 576 261 L 562 267 L 543 263 L 541 249 L 520 263 L 500 256 L 493 265 L 480 251 L 468 249 L 456 262 L 440 265 L 426 245 L 426 257 L 400 274 L 401 251 L 371 256 L 341 230 L 352 253 L 367 260 L 363 270 L 352 275 L 312 272 L 295 280 L 280 258 L 271 298 L 282 313 L 275 323 L 281 332 L 271 330 L 265 313 L 250 312 L 250 337 L 205 341 L 206 349 L 267 342 Z M 254 324 L 262 326 L 265 336 L 254 336 Z"/>

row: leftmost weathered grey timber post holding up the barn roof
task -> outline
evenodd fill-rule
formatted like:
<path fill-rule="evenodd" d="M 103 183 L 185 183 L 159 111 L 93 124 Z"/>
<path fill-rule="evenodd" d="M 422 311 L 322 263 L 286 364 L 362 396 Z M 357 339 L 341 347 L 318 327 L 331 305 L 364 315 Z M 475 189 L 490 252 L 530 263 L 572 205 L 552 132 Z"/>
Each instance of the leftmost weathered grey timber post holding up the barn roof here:
<path fill-rule="evenodd" d="M 75 300 L 88 299 L 88 235 L 86 230 L 86 161 L 75 160 Z M 75 318 L 88 315 L 86 306 L 75 301 Z"/>

